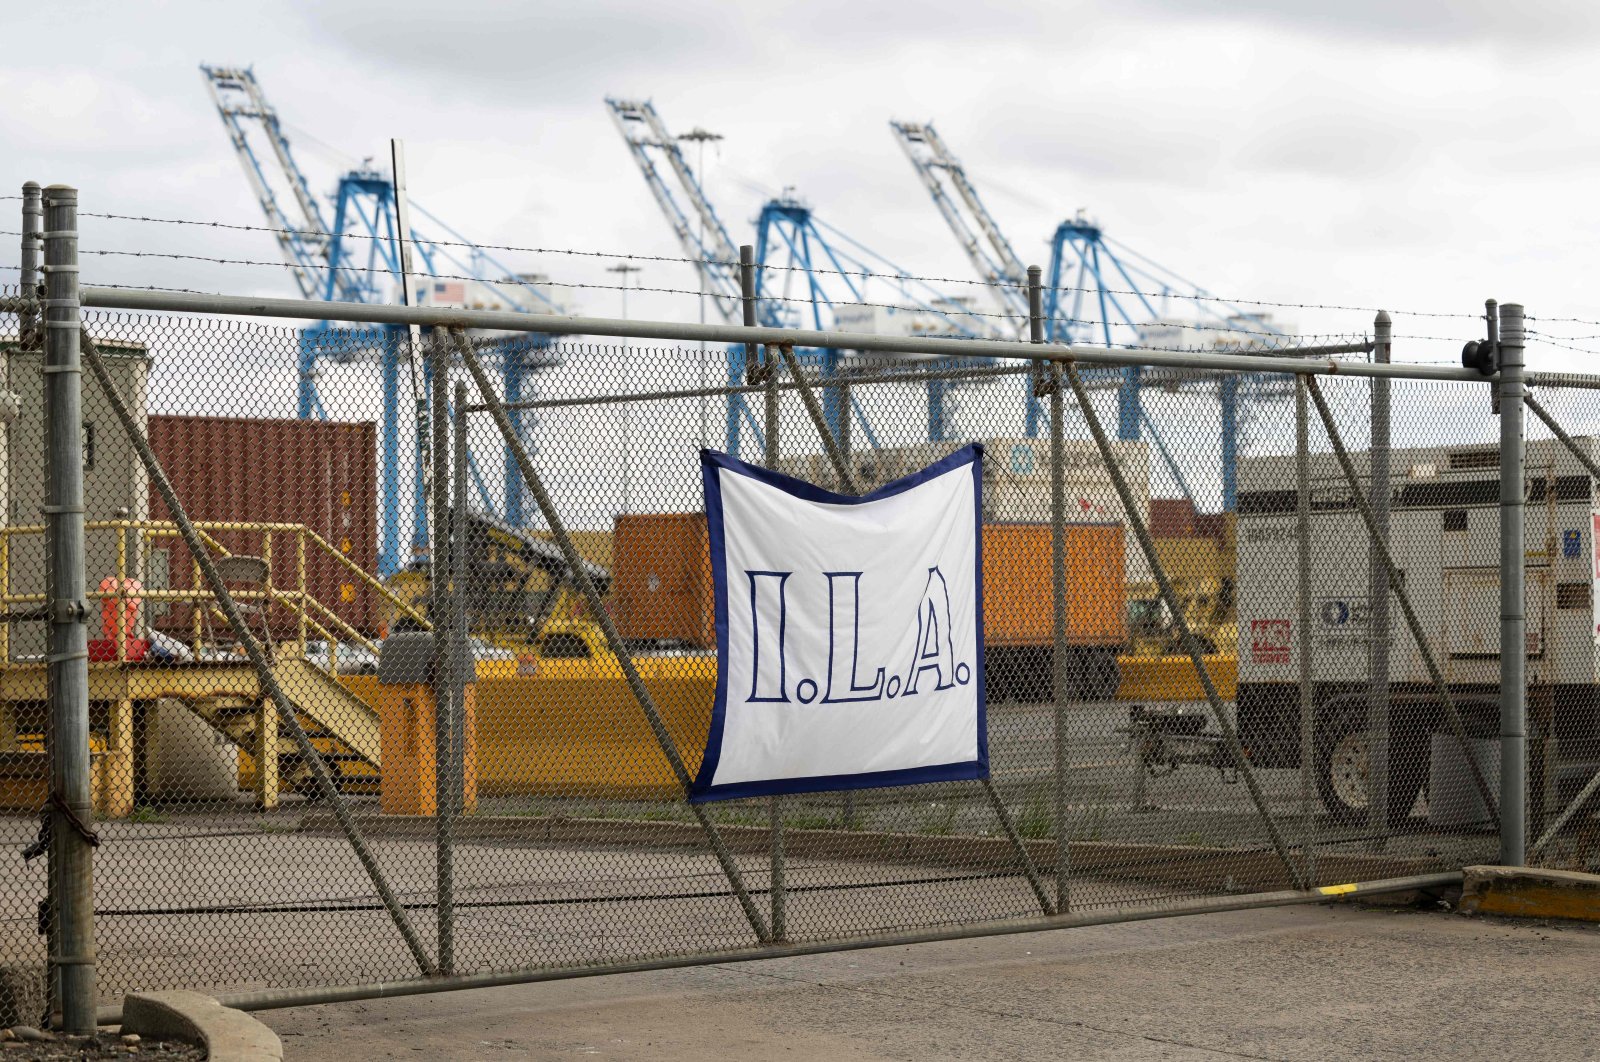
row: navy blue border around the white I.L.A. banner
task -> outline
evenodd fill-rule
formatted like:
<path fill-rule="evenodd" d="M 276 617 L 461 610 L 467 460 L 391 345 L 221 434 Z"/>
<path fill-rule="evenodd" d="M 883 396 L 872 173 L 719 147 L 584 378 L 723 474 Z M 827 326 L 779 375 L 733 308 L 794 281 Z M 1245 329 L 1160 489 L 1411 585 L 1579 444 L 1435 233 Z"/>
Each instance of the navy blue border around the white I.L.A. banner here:
<path fill-rule="evenodd" d="M 723 539 L 722 510 L 722 478 L 720 472 L 728 470 L 752 480 L 774 486 L 786 494 L 802 501 L 824 502 L 830 505 L 862 505 L 902 494 L 934 477 L 941 477 L 962 465 L 973 470 L 973 529 L 976 550 L 973 555 L 973 585 L 978 598 L 978 758 L 960 763 L 936 763 L 902 771 L 874 771 L 869 774 L 827 774 L 811 777 L 786 777 L 752 782 L 728 782 L 712 785 L 717 776 L 717 763 L 722 760 L 722 733 L 728 715 L 728 670 L 722 665 L 728 659 L 728 552 Z M 712 704 L 710 731 L 706 736 L 706 755 L 701 758 L 699 771 L 690 789 L 690 803 L 706 803 L 714 800 L 736 800 L 741 796 L 781 796 L 786 793 L 819 793 L 846 789 L 886 789 L 891 785 L 918 785 L 925 782 L 963 782 L 989 777 L 989 688 L 984 680 L 984 446 L 968 443 L 955 453 L 936 461 L 920 472 L 885 483 L 870 494 L 835 494 L 834 491 L 797 480 L 782 472 L 746 464 L 738 457 L 715 451 L 701 451 L 701 485 L 706 491 L 706 531 L 710 545 L 712 590 L 717 609 L 717 696 Z"/>

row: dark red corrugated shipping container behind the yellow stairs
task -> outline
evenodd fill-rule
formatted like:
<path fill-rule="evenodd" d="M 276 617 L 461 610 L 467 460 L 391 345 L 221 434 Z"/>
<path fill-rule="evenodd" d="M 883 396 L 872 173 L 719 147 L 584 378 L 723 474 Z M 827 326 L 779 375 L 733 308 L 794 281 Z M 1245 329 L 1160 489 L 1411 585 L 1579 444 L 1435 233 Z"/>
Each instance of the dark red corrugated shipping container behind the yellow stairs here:
<path fill-rule="evenodd" d="M 149 433 L 190 520 L 304 525 L 362 571 L 376 574 L 376 424 L 150 416 Z M 154 485 L 150 518 L 171 518 Z M 262 552 L 259 531 L 226 531 L 214 537 L 235 553 L 259 557 Z M 288 531 L 272 536 L 275 589 L 291 590 L 298 584 L 296 537 Z M 194 587 L 194 561 L 184 544 L 173 537 L 152 545 L 168 549 L 171 585 Z M 381 617 L 378 595 L 310 541 L 306 545 L 306 590 L 349 625 L 374 633 Z M 190 616 L 187 608 L 173 608 L 158 627 L 186 632 Z M 290 609 L 274 609 L 277 637 L 288 637 L 296 622 Z"/>

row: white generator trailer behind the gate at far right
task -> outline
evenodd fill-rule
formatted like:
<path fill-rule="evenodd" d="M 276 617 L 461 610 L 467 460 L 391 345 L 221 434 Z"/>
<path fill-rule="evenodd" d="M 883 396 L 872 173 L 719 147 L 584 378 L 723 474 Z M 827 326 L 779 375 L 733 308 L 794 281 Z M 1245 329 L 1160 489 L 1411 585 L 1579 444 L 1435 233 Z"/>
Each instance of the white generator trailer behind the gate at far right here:
<path fill-rule="evenodd" d="M 1582 438 L 1586 453 L 1600 440 Z M 1370 496 L 1368 454 L 1352 453 Z M 1240 461 L 1238 699 L 1246 757 L 1258 768 L 1301 761 L 1299 653 L 1312 651 L 1315 776 L 1323 804 L 1366 808 L 1368 536 L 1333 454 L 1310 457 L 1310 630 L 1298 608 L 1294 457 Z M 1581 776 L 1600 758 L 1600 507 L 1595 481 L 1555 440 L 1528 443 L 1526 669 L 1534 777 Z M 1494 445 L 1390 451 L 1390 550 L 1434 659 L 1475 739 L 1498 734 L 1499 449 Z M 1400 603 L 1389 621 L 1389 819 L 1411 814 L 1429 784 L 1434 734 L 1446 729 Z M 1459 749 L 1459 745 L 1458 745 Z M 1547 758 L 1539 763 L 1538 755 Z M 1459 755 L 1459 753 L 1454 753 Z M 1458 760 L 1459 763 L 1459 760 Z M 1486 766 L 1493 766 L 1493 760 Z M 1563 771 L 1565 768 L 1565 771 Z M 1534 800 L 1538 801 L 1538 793 Z"/>

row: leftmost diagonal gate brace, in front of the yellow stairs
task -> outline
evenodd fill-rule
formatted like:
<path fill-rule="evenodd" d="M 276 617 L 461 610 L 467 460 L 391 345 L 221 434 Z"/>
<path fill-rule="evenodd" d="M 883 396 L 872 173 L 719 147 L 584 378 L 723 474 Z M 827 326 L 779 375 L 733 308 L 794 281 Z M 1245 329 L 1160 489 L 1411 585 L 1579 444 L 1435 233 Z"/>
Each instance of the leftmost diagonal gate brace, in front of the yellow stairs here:
<path fill-rule="evenodd" d="M 389 880 L 384 876 L 382 868 L 378 865 L 371 849 L 366 846 L 366 838 L 362 836 L 360 827 L 355 824 L 354 816 L 350 816 L 350 809 L 346 806 L 344 796 L 339 793 L 339 787 L 334 785 L 333 776 L 328 773 L 328 765 L 323 763 L 322 755 L 317 752 L 315 745 L 310 744 L 306 728 L 301 726 L 293 702 L 290 702 L 283 688 L 278 685 L 278 680 L 272 675 L 272 664 L 267 661 L 266 651 L 261 648 L 256 635 L 250 630 L 250 625 L 245 624 L 245 619 L 240 616 L 238 605 L 234 601 L 234 595 L 222 582 L 222 576 L 216 569 L 216 561 L 211 558 L 211 552 L 200 539 L 200 533 L 195 529 L 194 523 L 190 523 L 182 502 L 178 501 L 178 493 L 173 489 L 171 480 L 166 478 L 162 462 L 155 457 L 155 451 L 150 449 L 150 441 L 139 430 L 138 421 L 134 421 L 133 414 L 128 411 L 128 403 L 123 401 L 122 393 L 118 393 L 110 373 L 106 369 L 106 363 L 101 360 L 99 349 L 94 345 L 94 341 L 90 339 L 86 329 L 83 331 L 83 361 L 90 366 L 94 379 L 99 381 L 101 390 L 106 392 L 106 398 L 110 401 L 110 408 L 117 414 L 117 421 L 122 422 L 123 430 L 128 433 L 128 441 L 133 443 L 134 451 L 139 454 L 139 461 L 144 464 L 146 473 L 155 485 L 155 491 L 162 496 L 162 501 L 166 502 L 166 510 L 173 515 L 173 523 L 178 525 L 178 533 L 182 536 L 184 545 L 189 547 L 195 563 L 200 565 L 200 573 L 211 587 L 211 595 L 216 598 L 218 608 L 221 608 L 222 614 L 227 617 L 229 625 L 234 629 L 234 635 L 243 641 L 245 653 L 250 656 L 250 662 L 256 669 L 256 680 L 272 699 L 272 704 L 277 709 L 278 717 L 283 720 L 283 726 L 288 728 L 290 737 L 294 741 L 294 747 L 299 750 L 301 758 L 310 765 L 312 776 L 317 779 L 318 793 L 328 801 L 328 806 L 333 808 L 333 816 L 339 820 L 339 828 L 350 843 L 350 849 L 360 860 L 362 868 L 366 870 L 366 876 L 371 878 L 373 888 L 378 891 L 378 896 L 384 904 L 384 910 L 389 912 L 395 928 L 405 939 L 405 945 L 411 952 L 411 958 L 416 960 L 416 966 L 422 971 L 424 977 L 432 976 L 435 972 L 434 963 L 422 948 L 421 937 L 418 937 L 416 929 L 411 926 L 411 920 L 406 918 L 398 897 L 395 897 L 394 889 L 389 886 Z"/>

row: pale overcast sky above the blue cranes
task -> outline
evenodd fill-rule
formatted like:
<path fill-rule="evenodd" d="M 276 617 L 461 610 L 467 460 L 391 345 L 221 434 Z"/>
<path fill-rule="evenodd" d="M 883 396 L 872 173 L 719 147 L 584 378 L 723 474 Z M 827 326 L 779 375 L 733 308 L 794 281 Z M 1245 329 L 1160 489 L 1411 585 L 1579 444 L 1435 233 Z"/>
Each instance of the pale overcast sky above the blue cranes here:
<path fill-rule="evenodd" d="M 968 277 L 888 130 L 933 120 L 1027 262 L 1086 208 L 1224 296 L 1461 313 L 1493 296 L 1600 318 L 1600 5 L 1582 0 L 5 8 L 8 38 L 32 46 L 0 67 L 0 186 L 70 182 L 86 211 L 259 224 L 198 72 L 254 64 L 317 190 L 400 136 L 416 202 L 486 243 L 678 253 L 602 102 L 621 94 L 653 98 L 674 131 L 726 138 L 707 187 L 739 242 L 792 187 L 899 264 Z M 83 246 L 277 259 L 259 232 L 96 219 Z M 507 258 L 613 280 L 606 259 Z M 282 269 L 160 259 L 88 258 L 85 280 L 294 293 Z M 640 281 L 696 286 L 675 264 Z M 619 310 L 616 291 L 574 302 Z M 629 312 L 694 320 L 696 305 L 642 293 Z M 1282 315 L 1302 331 L 1371 321 Z M 1400 339 L 1397 358 L 1454 360 L 1478 328 L 1398 317 L 1400 336 L 1442 339 Z M 1530 361 L 1594 368 L 1550 347 Z"/>

